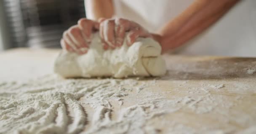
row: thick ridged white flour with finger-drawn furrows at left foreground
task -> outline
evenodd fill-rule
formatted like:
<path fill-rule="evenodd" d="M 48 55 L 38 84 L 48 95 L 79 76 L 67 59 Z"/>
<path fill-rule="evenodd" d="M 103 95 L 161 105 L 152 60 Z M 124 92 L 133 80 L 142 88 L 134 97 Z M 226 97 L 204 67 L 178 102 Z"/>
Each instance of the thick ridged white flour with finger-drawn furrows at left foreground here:
<path fill-rule="evenodd" d="M 123 105 L 122 97 L 135 88 L 143 89 L 152 84 L 154 82 L 139 84 L 136 79 L 63 80 L 56 75 L 26 82 L 1 82 L 0 134 L 78 134 L 88 124 L 93 126 L 86 134 L 102 131 L 105 125 L 117 125 L 115 133 L 137 131 L 140 128 L 129 130 L 130 124 L 126 122 L 132 123 L 135 118 L 128 116 L 135 116 L 136 112 L 144 114 L 141 110 L 149 108 L 154 111 L 147 115 L 150 118 L 157 112 L 155 104 L 163 100 L 141 102 L 124 109 L 118 121 L 112 121 L 109 99 Z M 79 102 L 81 98 L 86 101 Z M 91 122 L 84 106 L 90 106 L 95 111 Z"/>

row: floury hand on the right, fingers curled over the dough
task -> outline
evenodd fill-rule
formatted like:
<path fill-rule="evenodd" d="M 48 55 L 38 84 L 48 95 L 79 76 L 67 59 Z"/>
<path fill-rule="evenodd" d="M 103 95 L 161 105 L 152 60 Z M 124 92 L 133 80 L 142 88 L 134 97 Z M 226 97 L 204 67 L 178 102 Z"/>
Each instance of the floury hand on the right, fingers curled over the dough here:
<path fill-rule="evenodd" d="M 123 18 L 100 18 L 99 23 L 99 33 L 104 49 L 115 49 L 116 47 L 122 46 L 125 39 L 125 32 L 128 32 L 126 40 L 128 46 L 131 46 L 138 37 L 152 37 L 152 35 L 138 23 Z"/>

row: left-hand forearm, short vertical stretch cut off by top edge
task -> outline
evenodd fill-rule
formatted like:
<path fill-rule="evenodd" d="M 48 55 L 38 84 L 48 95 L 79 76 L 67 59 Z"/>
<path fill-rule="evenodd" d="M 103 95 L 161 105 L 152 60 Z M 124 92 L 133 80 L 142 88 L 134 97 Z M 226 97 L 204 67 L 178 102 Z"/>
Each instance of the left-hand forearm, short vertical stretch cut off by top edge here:
<path fill-rule="evenodd" d="M 89 19 L 112 18 L 114 7 L 112 0 L 85 0 L 85 12 Z"/>

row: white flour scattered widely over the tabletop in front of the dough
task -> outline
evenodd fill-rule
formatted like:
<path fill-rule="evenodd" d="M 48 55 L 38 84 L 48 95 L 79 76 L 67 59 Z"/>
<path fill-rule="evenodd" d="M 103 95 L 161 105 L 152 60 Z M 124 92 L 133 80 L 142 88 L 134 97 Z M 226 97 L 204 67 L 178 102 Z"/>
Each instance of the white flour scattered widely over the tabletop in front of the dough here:
<path fill-rule="evenodd" d="M 227 116 L 235 104 L 211 94 L 227 90 L 233 83 L 197 83 L 201 87 L 193 88 L 188 86 L 189 81 L 172 80 L 180 89 L 154 92 L 160 88 L 161 80 L 65 80 L 45 75 L 34 80 L 0 82 L 0 134 L 226 134 L 237 131 L 229 126 L 231 120 L 253 124 L 253 119 L 243 113 L 237 113 L 239 117 Z M 237 102 L 242 99 L 245 96 L 237 95 Z M 218 111 L 217 106 L 222 110 Z M 195 111 L 198 116 L 219 115 L 216 118 L 226 121 L 229 129 L 217 129 L 218 124 L 195 129 L 171 116 L 179 116 L 183 111 Z M 245 129 L 246 133 L 241 132 L 255 131 L 252 125 Z"/>

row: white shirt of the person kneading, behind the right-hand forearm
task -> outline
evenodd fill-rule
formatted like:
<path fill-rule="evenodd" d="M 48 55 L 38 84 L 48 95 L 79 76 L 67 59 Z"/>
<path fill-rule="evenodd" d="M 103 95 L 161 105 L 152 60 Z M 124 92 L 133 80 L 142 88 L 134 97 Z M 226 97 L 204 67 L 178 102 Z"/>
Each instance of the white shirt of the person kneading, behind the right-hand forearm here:
<path fill-rule="evenodd" d="M 135 21 L 154 33 L 194 0 L 113 1 L 116 17 Z M 213 26 L 183 45 L 179 53 L 256 57 L 256 0 L 241 0 Z"/>

